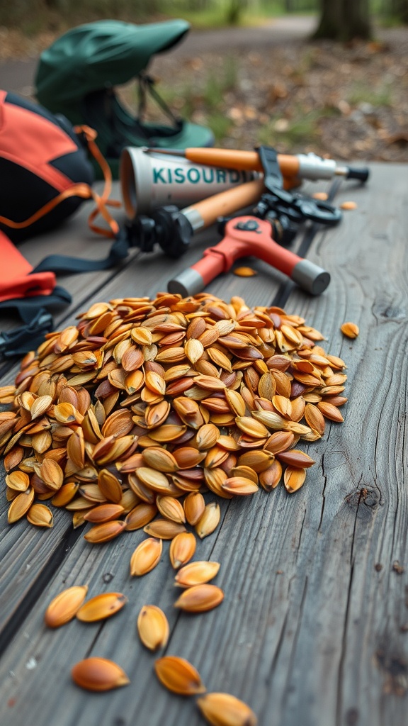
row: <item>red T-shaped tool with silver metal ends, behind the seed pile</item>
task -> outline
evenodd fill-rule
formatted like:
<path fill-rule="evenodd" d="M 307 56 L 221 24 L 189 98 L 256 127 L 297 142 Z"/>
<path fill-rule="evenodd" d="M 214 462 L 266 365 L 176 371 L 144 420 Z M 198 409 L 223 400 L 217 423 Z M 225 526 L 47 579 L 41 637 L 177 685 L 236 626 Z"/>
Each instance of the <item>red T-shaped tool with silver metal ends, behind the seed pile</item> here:
<path fill-rule="evenodd" d="M 320 295 L 330 274 L 309 260 L 282 248 L 272 239 L 272 224 L 253 216 L 230 219 L 224 239 L 205 250 L 203 258 L 168 282 L 170 293 L 196 295 L 217 275 L 228 272 L 240 257 L 255 256 L 290 277 L 302 290 Z"/>

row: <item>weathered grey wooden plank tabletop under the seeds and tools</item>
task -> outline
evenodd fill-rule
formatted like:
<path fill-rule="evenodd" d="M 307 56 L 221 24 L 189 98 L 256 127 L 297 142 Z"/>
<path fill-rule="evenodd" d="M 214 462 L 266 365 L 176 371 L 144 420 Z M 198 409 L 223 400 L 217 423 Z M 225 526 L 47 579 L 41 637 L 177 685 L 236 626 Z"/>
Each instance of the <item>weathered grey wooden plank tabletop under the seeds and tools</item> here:
<path fill-rule="evenodd" d="M 296 242 L 331 274 L 319 297 L 253 258 L 256 277 L 227 274 L 208 286 L 227 301 L 240 295 L 250 305 L 273 302 L 304 317 L 325 335 L 325 350 L 346 361 L 348 375 L 344 423 L 328 422 L 322 440 L 301 442 L 316 464 L 298 492 L 280 485 L 220 500 L 219 528 L 195 555 L 221 563 L 218 608 L 200 615 L 174 608 L 168 542 L 159 566 L 131 578 L 129 559 L 143 531 L 92 545 L 65 510 L 55 511 L 52 529 L 25 519 L 10 526 L 3 486 L 2 726 L 203 724 L 194 697 L 170 693 L 155 677 L 153 663 L 164 653 L 194 664 L 209 692 L 248 703 L 259 726 L 408 724 L 407 199 L 405 166 L 372 163 L 367 184 L 340 185 L 335 203 L 354 200 L 356 210 L 344 212 L 338 227 L 319 227 L 309 250 L 309 227 Z M 104 256 L 109 242 L 88 231 L 89 209 L 86 203 L 63 227 L 20 250 L 32 264 L 50 251 Z M 96 301 L 166 290 L 169 277 L 217 239 L 207 230 L 176 261 L 160 250 L 136 252 L 108 272 L 65 277 L 60 284 L 73 303 L 57 311 L 56 327 L 73 325 Z M 359 326 L 354 340 L 340 332 L 346 321 Z M 4 319 L 4 327 L 12 322 Z M 3 364 L 1 385 L 18 370 L 18 362 Z M 89 596 L 122 592 L 126 607 L 102 624 L 48 629 L 44 611 L 52 598 L 85 583 Z M 147 603 L 166 612 L 171 628 L 157 654 L 136 632 Z M 74 685 L 70 669 L 91 655 L 116 661 L 130 685 L 107 693 Z"/>

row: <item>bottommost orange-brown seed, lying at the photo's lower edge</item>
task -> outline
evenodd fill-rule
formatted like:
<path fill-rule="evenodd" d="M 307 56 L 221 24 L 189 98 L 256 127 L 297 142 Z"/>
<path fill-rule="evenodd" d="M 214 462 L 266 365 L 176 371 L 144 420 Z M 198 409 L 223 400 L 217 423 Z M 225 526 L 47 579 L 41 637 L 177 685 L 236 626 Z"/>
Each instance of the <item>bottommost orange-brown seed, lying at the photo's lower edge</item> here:
<path fill-rule="evenodd" d="M 207 693 L 197 706 L 212 726 L 256 726 L 258 719 L 246 703 L 229 693 Z"/>

